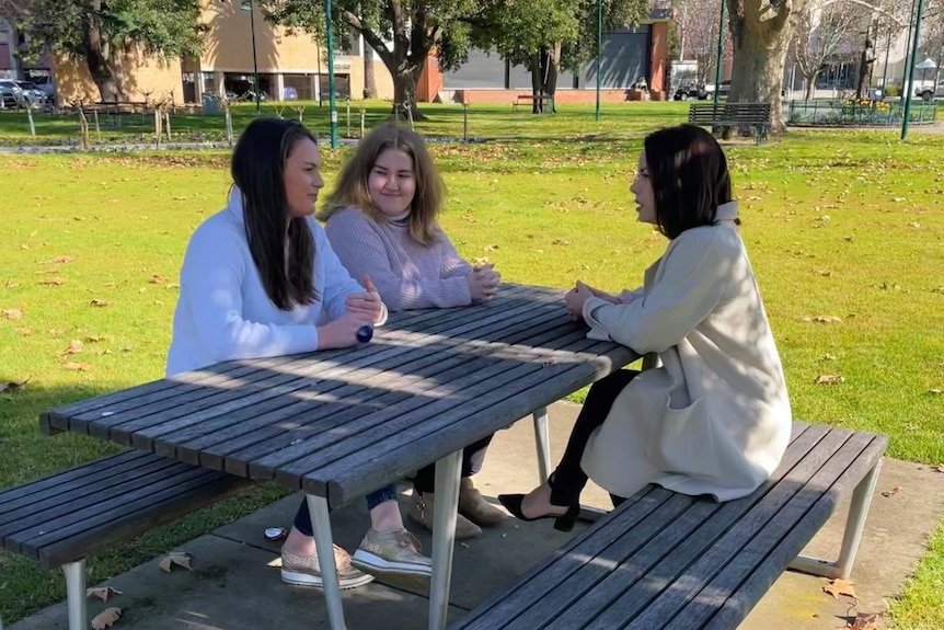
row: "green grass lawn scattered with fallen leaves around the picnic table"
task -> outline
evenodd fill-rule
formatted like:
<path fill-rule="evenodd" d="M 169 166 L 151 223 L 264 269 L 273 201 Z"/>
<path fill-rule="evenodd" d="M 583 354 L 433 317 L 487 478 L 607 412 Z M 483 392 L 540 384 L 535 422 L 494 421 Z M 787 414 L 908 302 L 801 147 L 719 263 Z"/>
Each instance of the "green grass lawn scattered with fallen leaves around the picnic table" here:
<path fill-rule="evenodd" d="M 483 110 L 474 135 L 520 137 L 434 146 L 449 187 L 442 224 L 460 252 L 488 257 L 510 282 L 636 286 L 665 248 L 635 222 L 629 199 L 642 134 L 680 122 L 686 108 L 634 105 L 608 107 L 599 123 L 591 107 L 557 116 Z M 373 107 L 378 119 L 382 107 Z M 461 107 L 427 112 L 421 130 L 461 135 Z M 14 116 L 0 116 L 0 139 L 15 136 Z M 251 110 L 240 116 L 244 124 Z M 68 136 L 59 124 L 49 134 Z M 325 150 L 329 182 L 346 150 Z M 796 417 L 885 432 L 889 456 L 944 462 L 941 139 L 797 133 L 727 150 Z M 0 382 L 30 379 L 23 391 L 0 393 L 0 488 L 113 450 L 77 435 L 43 436 L 36 417 L 162 376 L 183 250 L 225 203 L 227 164 L 226 153 L 209 151 L 0 156 Z M 816 321 L 825 316 L 839 321 Z M 822 375 L 844 380 L 816 385 Z M 93 558 L 90 582 L 279 494 L 263 488 Z M 939 529 L 894 605 L 897 627 L 944 628 L 942 587 Z M 57 574 L 0 554 L 7 622 L 62 597 Z"/>

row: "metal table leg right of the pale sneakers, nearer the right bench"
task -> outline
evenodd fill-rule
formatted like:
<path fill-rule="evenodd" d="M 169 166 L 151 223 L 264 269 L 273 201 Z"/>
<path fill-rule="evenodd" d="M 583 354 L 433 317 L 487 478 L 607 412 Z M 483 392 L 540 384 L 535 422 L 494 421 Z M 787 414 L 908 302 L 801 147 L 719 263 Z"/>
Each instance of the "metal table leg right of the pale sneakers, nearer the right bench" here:
<path fill-rule="evenodd" d="M 459 507 L 462 451 L 436 461 L 436 505 L 433 508 L 433 579 L 429 582 L 429 630 L 445 630 L 452 580 L 452 546 Z"/>

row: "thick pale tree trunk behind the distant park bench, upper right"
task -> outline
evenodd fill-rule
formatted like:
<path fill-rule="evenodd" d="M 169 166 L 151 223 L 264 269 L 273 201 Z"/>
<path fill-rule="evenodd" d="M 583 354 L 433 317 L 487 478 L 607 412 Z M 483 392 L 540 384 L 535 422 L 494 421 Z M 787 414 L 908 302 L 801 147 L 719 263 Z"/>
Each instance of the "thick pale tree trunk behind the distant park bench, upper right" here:
<path fill-rule="evenodd" d="M 779 8 L 757 0 L 727 0 L 734 44 L 730 103 L 770 103 L 771 134 L 785 130 L 783 123 L 783 68 L 790 45 L 792 3 Z M 740 4 L 740 5 L 739 5 Z M 749 134 L 749 129 L 740 131 Z"/>

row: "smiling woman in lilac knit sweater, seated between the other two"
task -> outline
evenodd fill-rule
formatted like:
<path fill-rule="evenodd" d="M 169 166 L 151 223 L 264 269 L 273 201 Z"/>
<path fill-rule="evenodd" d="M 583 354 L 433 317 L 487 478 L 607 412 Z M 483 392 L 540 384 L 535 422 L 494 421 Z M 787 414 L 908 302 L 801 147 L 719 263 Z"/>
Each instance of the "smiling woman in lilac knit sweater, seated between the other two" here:
<path fill-rule="evenodd" d="M 493 265 L 462 260 L 439 227 L 444 193 L 423 138 L 384 124 L 357 146 L 319 214 L 341 262 L 355 277 L 370 275 L 391 311 L 464 307 L 495 294 L 500 276 Z M 472 483 L 491 440 L 490 435 L 462 451 L 457 538 L 477 536 L 480 526 L 507 518 Z M 433 528 L 435 470 L 430 463 L 413 480 L 410 517 L 427 529 Z"/>

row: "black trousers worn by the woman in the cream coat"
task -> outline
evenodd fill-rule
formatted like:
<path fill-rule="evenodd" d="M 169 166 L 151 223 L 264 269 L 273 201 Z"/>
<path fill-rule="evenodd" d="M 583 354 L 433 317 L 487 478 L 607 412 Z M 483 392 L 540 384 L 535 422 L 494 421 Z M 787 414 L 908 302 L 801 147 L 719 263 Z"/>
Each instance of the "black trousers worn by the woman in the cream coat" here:
<path fill-rule="evenodd" d="M 606 378 L 601 378 L 590 386 L 584 408 L 577 416 L 564 457 L 552 476 L 551 503 L 554 505 L 572 505 L 579 502 L 580 492 L 587 485 L 587 473 L 580 468 L 580 459 L 587 448 L 587 442 L 594 431 L 603 424 L 613 401 L 623 391 L 631 380 L 638 376 L 638 371 L 621 369 Z M 613 505 L 619 505 L 624 499 L 611 496 Z"/>

